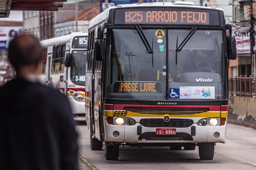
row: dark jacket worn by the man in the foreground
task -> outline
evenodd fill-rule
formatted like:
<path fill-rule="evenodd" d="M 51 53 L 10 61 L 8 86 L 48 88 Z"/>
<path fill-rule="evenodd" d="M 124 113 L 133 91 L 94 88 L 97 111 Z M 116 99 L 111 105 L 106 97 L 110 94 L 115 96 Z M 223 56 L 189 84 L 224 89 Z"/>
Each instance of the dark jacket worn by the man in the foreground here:
<path fill-rule="evenodd" d="M 73 170 L 77 133 L 67 98 L 22 78 L 0 87 L 0 169 Z"/>

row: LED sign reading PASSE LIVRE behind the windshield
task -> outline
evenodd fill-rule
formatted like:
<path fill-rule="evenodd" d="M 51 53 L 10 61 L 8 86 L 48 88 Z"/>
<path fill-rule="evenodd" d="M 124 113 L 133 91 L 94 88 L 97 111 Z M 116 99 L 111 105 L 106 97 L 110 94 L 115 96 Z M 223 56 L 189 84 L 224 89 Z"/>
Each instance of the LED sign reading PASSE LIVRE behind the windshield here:
<path fill-rule="evenodd" d="M 135 93 L 157 93 L 159 90 L 159 83 L 157 81 L 116 81 L 115 92 L 135 92 Z"/>

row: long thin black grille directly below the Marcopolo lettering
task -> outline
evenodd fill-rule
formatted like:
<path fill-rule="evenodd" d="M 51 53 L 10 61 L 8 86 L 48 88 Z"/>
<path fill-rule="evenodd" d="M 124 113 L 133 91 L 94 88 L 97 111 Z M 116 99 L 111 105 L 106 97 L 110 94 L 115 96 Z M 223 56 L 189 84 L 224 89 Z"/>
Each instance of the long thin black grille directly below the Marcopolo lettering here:
<path fill-rule="evenodd" d="M 193 115 L 208 112 L 209 108 L 124 107 L 125 111 L 148 115 Z"/>

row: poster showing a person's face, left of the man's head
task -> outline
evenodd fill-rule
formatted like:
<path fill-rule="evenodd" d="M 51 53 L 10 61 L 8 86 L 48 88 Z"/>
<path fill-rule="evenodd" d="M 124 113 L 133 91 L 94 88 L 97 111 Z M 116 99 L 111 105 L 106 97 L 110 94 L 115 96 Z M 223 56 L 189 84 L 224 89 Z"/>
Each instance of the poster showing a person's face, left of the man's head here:
<path fill-rule="evenodd" d="M 11 40 L 23 33 L 23 27 L 0 27 L 0 50 L 6 50 Z"/>

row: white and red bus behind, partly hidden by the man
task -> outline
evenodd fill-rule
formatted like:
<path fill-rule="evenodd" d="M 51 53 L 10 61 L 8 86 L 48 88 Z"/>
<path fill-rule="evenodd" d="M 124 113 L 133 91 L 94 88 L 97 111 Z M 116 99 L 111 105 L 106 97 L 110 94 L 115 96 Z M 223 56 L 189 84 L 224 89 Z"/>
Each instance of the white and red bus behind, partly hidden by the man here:
<path fill-rule="evenodd" d="M 40 41 L 44 59 L 39 79 L 44 85 L 56 88 L 68 97 L 74 116 L 85 114 L 87 39 L 87 33 L 74 32 Z"/>

